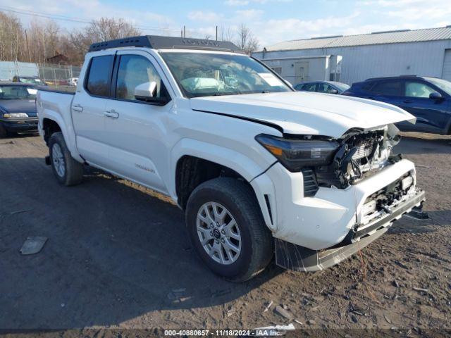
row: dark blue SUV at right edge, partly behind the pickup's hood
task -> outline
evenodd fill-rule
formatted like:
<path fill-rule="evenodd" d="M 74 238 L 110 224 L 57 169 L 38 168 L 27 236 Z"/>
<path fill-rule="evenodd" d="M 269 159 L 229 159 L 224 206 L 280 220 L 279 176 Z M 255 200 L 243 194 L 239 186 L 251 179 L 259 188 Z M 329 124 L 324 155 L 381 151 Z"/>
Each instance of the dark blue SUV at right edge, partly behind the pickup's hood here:
<path fill-rule="evenodd" d="M 400 130 L 451 134 L 451 82 L 436 77 L 376 77 L 352 84 L 342 95 L 394 104 L 416 117 Z"/>

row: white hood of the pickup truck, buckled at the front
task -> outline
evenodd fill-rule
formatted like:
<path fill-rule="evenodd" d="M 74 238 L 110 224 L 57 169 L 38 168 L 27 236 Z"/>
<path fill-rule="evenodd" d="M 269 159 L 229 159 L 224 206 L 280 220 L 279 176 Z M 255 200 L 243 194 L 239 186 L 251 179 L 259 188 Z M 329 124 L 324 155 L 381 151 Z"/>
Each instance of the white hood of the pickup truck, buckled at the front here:
<path fill-rule="evenodd" d="M 198 111 L 223 113 L 271 123 L 286 134 L 341 137 L 351 128 L 370 130 L 409 120 L 413 115 L 379 101 L 311 92 L 205 96 L 190 99 Z"/>

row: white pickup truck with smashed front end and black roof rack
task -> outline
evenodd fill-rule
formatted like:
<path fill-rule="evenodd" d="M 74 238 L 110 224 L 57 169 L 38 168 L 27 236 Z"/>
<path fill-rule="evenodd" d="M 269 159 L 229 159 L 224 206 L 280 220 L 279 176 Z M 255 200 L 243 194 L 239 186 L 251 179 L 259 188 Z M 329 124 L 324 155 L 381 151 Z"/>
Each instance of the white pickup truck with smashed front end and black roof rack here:
<path fill-rule="evenodd" d="M 93 44 L 75 94 L 40 90 L 58 182 L 91 165 L 171 196 L 214 273 L 339 263 L 421 207 L 392 154 L 401 108 L 295 92 L 229 42 L 144 36 Z M 157 240 L 157 239 L 156 239 Z"/>

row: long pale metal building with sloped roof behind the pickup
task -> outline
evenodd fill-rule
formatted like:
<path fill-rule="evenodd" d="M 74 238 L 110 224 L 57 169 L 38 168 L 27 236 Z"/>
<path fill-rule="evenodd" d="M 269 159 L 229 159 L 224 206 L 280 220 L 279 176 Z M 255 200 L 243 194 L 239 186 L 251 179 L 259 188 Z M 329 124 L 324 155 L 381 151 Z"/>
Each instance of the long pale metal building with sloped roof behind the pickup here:
<path fill-rule="evenodd" d="M 292 40 L 252 54 L 292 84 L 423 75 L 451 81 L 451 26 Z"/>

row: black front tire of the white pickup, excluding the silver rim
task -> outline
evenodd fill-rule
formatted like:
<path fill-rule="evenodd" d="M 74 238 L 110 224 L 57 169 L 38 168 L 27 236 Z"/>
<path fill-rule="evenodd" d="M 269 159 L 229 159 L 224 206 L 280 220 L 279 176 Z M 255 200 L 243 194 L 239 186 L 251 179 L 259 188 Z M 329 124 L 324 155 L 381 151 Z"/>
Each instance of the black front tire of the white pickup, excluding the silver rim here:
<path fill-rule="evenodd" d="M 197 213 L 209 202 L 224 206 L 239 227 L 241 252 L 236 261 L 228 265 L 218 263 L 209 256 L 197 233 Z M 251 279 L 264 270 L 273 257 L 273 238 L 264 223 L 257 198 L 252 187 L 240 180 L 219 177 L 200 184 L 188 199 L 186 223 L 192 245 L 202 261 L 214 273 L 232 282 Z"/>

